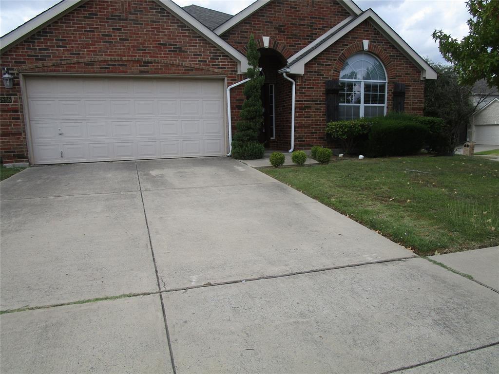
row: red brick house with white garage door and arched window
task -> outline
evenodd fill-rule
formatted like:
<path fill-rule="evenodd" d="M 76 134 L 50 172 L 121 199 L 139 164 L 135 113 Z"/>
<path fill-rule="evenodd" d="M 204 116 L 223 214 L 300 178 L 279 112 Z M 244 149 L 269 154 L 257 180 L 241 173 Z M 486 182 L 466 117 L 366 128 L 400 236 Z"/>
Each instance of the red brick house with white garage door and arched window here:
<path fill-rule="evenodd" d="M 227 154 L 244 101 L 243 84 L 228 88 L 245 79 L 250 34 L 267 148 L 332 147 L 328 120 L 422 114 L 425 79 L 436 79 L 349 0 L 259 0 L 234 16 L 168 0 L 64 0 L 1 38 L 13 76 L 11 89 L 1 84 L 11 99 L 1 104 L 2 162 Z"/>

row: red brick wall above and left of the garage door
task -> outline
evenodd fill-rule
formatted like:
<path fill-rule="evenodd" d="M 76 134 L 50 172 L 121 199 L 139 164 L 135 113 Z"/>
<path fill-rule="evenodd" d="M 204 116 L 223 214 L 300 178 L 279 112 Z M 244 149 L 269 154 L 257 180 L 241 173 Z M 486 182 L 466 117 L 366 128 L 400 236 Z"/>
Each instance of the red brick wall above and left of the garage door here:
<path fill-rule="evenodd" d="M 14 87 L 1 96 L 0 157 L 27 162 L 18 72 L 237 76 L 237 63 L 154 1 L 88 1 L 1 55 Z M 237 101 L 237 100 L 236 100 Z M 237 113 L 235 113 L 237 115 Z"/>

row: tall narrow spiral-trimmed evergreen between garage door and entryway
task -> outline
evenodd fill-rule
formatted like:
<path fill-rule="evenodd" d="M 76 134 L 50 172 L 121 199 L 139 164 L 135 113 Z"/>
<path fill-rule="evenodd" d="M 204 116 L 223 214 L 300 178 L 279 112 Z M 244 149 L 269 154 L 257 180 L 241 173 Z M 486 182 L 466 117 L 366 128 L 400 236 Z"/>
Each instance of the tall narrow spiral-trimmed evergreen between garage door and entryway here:
<path fill-rule="evenodd" d="M 260 52 L 256 48 L 253 35 L 247 45 L 247 58 L 249 68 L 246 73 L 250 78 L 245 84 L 244 94 L 246 100 L 241 110 L 241 120 L 236 125 L 236 134 L 232 141 L 232 156 L 240 160 L 261 159 L 265 148 L 258 143 L 258 134 L 263 124 L 263 105 L 261 103 L 261 86 L 265 77 L 260 75 L 258 60 Z"/>

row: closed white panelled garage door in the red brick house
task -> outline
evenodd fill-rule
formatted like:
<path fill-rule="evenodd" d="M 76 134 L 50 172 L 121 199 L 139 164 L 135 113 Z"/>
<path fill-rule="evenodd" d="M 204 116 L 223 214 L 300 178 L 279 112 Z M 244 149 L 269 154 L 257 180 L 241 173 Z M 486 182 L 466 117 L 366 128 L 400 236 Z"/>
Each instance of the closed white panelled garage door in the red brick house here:
<path fill-rule="evenodd" d="M 223 81 L 28 77 L 34 164 L 225 154 Z"/>

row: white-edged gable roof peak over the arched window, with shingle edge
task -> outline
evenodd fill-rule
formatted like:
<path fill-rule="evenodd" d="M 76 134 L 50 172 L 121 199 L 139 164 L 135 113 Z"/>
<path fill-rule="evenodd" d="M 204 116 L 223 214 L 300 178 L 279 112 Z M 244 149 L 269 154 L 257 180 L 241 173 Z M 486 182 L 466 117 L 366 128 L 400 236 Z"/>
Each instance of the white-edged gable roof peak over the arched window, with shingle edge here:
<path fill-rule="evenodd" d="M 346 18 L 337 24 L 314 42 L 307 45 L 301 51 L 289 58 L 289 63 L 281 70 L 286 69 L 291 74 L 302 75 L 305 72 L 305 64 L 323 52 L 327 47 L 353 30 L 365 20 L 369 20 L 388 40 L 421 70 L 421 79 L 437 79 L 437 73 L 433 68 L 414 50 L 399 34 L 397 34 L 381 17 L 372 9 L 367 9 L 354 18 Z"/>

